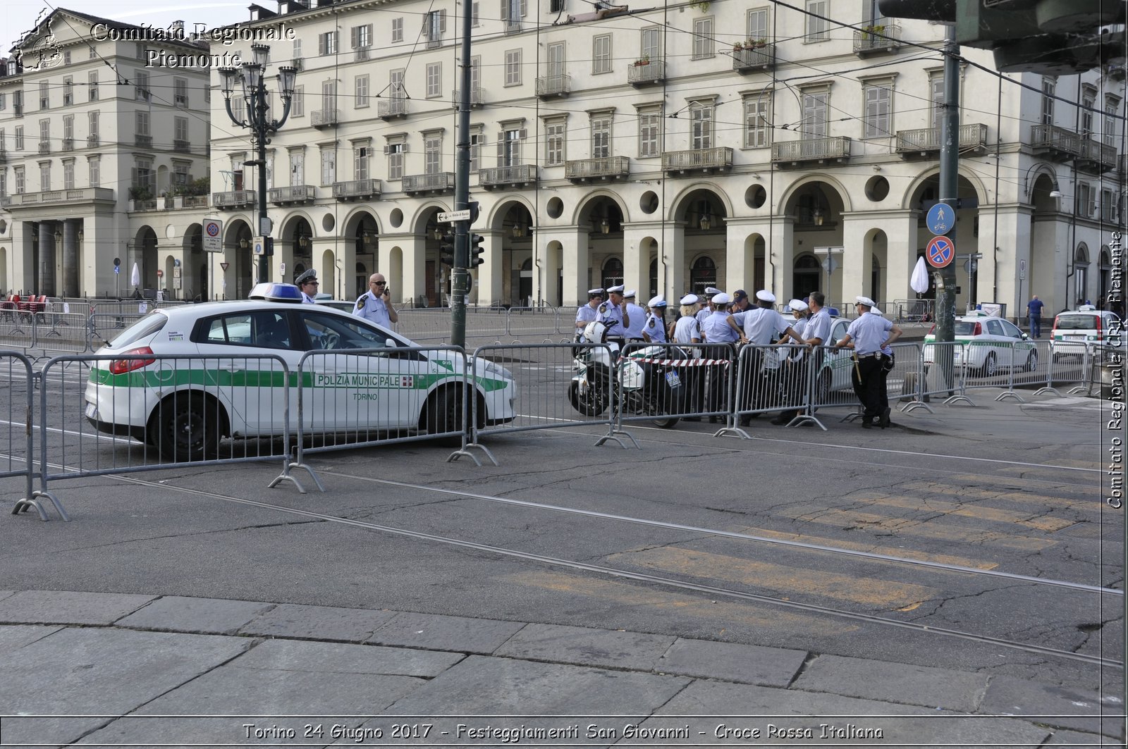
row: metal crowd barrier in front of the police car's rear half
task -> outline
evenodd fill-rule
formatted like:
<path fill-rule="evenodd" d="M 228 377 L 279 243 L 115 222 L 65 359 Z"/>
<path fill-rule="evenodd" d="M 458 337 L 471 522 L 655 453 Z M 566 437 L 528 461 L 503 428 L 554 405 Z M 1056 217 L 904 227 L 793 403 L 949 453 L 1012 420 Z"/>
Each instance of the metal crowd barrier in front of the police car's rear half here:
<path fill-rule="evenodd" d="M 72 362 L 89 374 L 69 373 Z M 305 493 L 289 475 L 292 388 L 281 356 L 64 355 L 39 377 L 39 493 L 53 501 L 49 486 L 68 478 L 270 459 L 283 468 L 271 486 L 289 479 Z"/>

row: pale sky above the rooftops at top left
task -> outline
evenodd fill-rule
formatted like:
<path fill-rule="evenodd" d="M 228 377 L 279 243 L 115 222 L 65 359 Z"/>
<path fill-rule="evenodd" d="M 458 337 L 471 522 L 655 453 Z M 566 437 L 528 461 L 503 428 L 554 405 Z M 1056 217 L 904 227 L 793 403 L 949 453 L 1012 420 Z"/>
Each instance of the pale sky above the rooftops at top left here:
<path fill-rule="evenodd" d="M 248 0 L 229 0 L 201 2 L 162 2 L 161 0 L 70 0 L 70 2 L 49 3 L 45 0 L 7 0 L 0 2 L 0 56 L 7 56 L 19 37 L 30 30 L 41 14 L 50 14 L 55 8 L 71 8 L 90 16 L 111 18 L 125 24 L 141 26 L 168 27 L 176 20 L 183 20 L 186 32 L 195 29 L 196 24 L 208 28 L 227 26 L 247 20 L 250 14 Z M 273 2 L 263 3 L 274 9 Z"/>

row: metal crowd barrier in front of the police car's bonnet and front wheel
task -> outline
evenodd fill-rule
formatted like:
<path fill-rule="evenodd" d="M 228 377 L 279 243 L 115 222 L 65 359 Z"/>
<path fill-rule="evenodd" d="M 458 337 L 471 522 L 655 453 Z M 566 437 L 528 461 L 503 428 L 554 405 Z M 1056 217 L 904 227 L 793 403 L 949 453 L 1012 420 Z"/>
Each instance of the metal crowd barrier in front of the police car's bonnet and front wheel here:
<path fill-rule="evenodd" d="M 478 405 L 484 384 L 474 379 L 472 403 Z M 309 472 L 321 491 L 307 453 L 437 437 L 466 449 L 470 379 L 458 346 L 309 351 L 298 362 L 298 380 L 297 458 L 290 467 Z"/>

